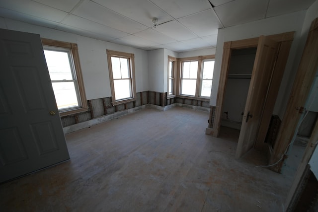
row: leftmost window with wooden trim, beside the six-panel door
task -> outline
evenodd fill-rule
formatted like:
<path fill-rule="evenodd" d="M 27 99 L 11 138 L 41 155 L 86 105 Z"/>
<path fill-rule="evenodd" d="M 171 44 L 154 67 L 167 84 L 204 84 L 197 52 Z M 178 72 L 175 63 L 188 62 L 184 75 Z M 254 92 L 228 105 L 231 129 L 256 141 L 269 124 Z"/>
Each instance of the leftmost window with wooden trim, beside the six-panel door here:
<path fill-rule="evenodd" d="M 77 44 L 45 38 L 42 44 L 60 115 L 86 111 Z"/>

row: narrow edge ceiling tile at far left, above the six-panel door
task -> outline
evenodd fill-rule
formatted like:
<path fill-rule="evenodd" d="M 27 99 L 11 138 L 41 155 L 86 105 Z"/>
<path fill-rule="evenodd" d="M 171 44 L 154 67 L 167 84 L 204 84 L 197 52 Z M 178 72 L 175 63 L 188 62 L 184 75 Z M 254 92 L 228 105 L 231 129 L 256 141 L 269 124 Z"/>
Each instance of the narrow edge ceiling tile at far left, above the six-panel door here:
<path fill-rule="evenodd" d="M 36 24 L 36 25 L 45 26 L 49 28 L 54 28 L 59 24 L 58 22 L 50 21 L 47 19 L 39 18 L 39 17 L 34 17 L 31 15 L 27 15 L 25 13 L 12 11 L 2 7 L 0 7 L 0 14 L 3 17 L 11 18 L 13 20 L 23 21 L 26 23 Z"/>

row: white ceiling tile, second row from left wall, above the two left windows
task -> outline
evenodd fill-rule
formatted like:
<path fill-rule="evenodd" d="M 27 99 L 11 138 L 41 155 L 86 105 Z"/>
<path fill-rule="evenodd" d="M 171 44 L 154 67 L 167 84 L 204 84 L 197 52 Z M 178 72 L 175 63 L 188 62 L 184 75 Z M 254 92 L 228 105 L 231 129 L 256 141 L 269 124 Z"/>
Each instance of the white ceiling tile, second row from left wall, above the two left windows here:
<path fill-rule="evenodd" d="M 64 25 L 73 26 L 75 28 L 79 28 L 85 31 L 91 31 L 97 34 L 103 34 L 105 37 L 109 38 L 119 38 L 125 37 L 129 35 L 128 33 L 119 31 L 117 29 L 113 29 L 108 26 L 104 26 L 102 24 L 87 20 L 85 18 L 81 18 L 76 15 L 69 15 L 65 20 L 62 22 Z"/>

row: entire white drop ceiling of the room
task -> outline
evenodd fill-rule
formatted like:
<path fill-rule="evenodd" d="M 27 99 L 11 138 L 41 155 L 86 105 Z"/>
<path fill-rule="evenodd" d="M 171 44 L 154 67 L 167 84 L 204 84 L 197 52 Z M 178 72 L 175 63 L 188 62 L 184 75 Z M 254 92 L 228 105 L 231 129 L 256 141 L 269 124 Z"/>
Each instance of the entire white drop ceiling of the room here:
<path fill-rule="evenodd" d="M 314 1 L 0 0 L 0 17 L 144 50 L 184 52 L 215 47 L 220 28 L 304 10 Z"/>

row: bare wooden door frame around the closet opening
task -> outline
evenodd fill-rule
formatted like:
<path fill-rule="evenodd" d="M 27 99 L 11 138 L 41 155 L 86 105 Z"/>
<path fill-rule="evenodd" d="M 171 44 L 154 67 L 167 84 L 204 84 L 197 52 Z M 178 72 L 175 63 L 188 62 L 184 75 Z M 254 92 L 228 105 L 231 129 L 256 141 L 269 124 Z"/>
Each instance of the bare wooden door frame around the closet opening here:
<path fill-rule="evenodd" d="M 273 92 L 272 90 L 275 90 L 277 86 L 280 85 L 280 81 L 283 76 L 285 66 L 287 63 L 291 43 L 294 39 L 294 33 L 295 32 L 286 32 L 286 33 L 268 36 L 272 40 L 280 43 L 279 55 L 277 58 L 275 69 L 274 69 L 274 71 L 277 72 L 276 77 L 280 78 L 280 80 L 277 80 L 279 81 L 279 83 L 275 83 L 275 86 L 274 85 L 270 86 L 269 92 L 273 93 L 273 95 L 275 95 L 275 98 L 268 98 L 268 99 L 271 99 L 271 100 L 275 99 L 275 101 L 265 103 L 267 104 L 267 107 L 269 107 L 269 109 L 264 110 L 263 117 L 268 117 L 268 116 L 271 117 L 272 115 L 272 111 L 274 109 L 274 105 L 275 105 L 276 97 L 277 97 L 277 92 Z M 228 77 L 228 72 L 230 68 L 231 52 L 234 49 L 245 49 L 245 48 L 257 47 L 258 39 L 259 38 L 257 37 L 257 38 L 250 38 L 250 39 L 244 39 L 244 40 L 238 40 L 238 41 L 224 42 L 221 75 L 219 80 L 215 117 L 214 117 L 213 129 L 210 133 L 214 137 L 218 137 L 220 134 L 221 115 L 222 115 L 223 103 L 225 98 L 227 77 Z"/>

